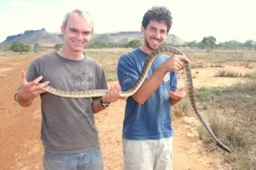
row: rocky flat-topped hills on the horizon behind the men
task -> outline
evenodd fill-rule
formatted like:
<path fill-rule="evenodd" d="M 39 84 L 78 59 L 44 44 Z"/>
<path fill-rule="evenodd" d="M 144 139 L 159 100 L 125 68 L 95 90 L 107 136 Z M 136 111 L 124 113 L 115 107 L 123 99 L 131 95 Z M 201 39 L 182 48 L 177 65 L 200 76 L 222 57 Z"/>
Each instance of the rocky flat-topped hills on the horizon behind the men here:
<path fill-rule="evenodd" d="M 122 31 L 116 33 L 93 34 L 90 43 L 105 42 L 105 43 L 127 43 L 131 40 L 138 39 L 143 42 L 143 35 L 139 31 Z M 55 44 L 62 44 L 64 37 L 61 33 L 49 33 L 45 29 L 42 30 L 26 30 L 22 34 L 10 35 L 0 45 L 12 45 L 14 41 L 20 41 L 28 45 L 38 43 L 44 46 L 54 46 Z M 166 39 L 167 43 L 174 43 L 175 45 L 182 45 L 184 41 L 174 34 L 170 34 Z"/>

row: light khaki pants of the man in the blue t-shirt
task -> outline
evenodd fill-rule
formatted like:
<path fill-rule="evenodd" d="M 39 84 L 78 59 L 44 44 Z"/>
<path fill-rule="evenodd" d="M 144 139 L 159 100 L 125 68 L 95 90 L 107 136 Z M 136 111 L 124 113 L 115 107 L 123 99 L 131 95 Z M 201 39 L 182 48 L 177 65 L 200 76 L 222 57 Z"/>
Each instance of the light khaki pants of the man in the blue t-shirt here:
<path fill-rule="evenodd" d="M 123 170 L 172 170 L 173 137 L 161 140 L 122 139 Z"/>

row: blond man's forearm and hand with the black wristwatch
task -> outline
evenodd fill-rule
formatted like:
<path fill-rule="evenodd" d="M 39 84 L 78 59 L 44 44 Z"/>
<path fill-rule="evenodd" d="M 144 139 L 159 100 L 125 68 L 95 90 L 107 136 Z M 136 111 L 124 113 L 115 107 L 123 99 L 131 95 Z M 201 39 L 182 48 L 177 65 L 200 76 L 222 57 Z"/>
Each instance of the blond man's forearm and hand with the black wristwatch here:
<path fill-rule="evenodd" d="M 120 97 L 121 94 L 121 87 L 119 85 L 114 85 L 110 87 L 110 90 L 106 93 L 105 97 L 102 97 L 103 103 L 110 103 L 114 101 L 118 101 L 118 99 L 126 100 L 126 97 Z M 98 113 L 102 111 L 103 109 L 106 109 L 106 107 L 103 107 L 101 105 L 100 100 L 93 101 L 92 107 L 94 110 L 94 113 Z"/>

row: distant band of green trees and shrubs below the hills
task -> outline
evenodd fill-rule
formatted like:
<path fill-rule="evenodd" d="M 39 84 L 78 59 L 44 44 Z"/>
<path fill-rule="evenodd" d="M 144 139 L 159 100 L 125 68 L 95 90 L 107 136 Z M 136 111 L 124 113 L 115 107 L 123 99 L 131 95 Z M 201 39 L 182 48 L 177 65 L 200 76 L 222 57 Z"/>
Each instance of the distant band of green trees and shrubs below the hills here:
<path fill-rule="evenodd" d="M 96 41 L 92 39 L 90 43 L 86 46 L 86 49 L 106 49 L 106 48 L 136 48 L 140 45 L 142 45 L 143 38 L 139 37 L 139 35 L 132 36 L 131 38 L 122 37 L 123 39 L 132 39 L 130 42 L 114 42 L 113 38 L 111 39 L 110 42 L 104 40 Z M 48 36 L 49 37 L 49 36 Z M 97 36 L 96 36 L 97 37 Z M 93 38 L 93 37 L 92 37 Z M 39 38 L 40 39 L 40 38 Z M 97 39 L 101 39 L 98 37 Z M 56 41 L 54 38 L 53 41 Z M 17 43 L 17 42 L 15 42 Z M 22 42 L 23 43 L 23 42 Z M 52 42 L 50 42 L 52 44 Z M 38 43 L 34 43 L 34 45 L 39 45 Z M 38 46 L 34 49 L 34 52 L 38 52 L 40 50 L 45 50 L 45 49 L 60 49 L 62 48 L 63 43 L 57 43 L 54 46 L 43 46 L 41 45 L 38 50 Z M 255 50 L 256 49 L 256 42 L 253 40 L 246 40 L 246 42 L 237 42 L 235 40 L 229 41 L 229 42 L 218 42 L 217 44 L 217 39 L 214 38 L 213 36 L 208 36 L 202 38 L 201 42 L 197 41 L 192 41 L 192 42 L 182 42 L 180 38 L 178 38 L 175 35 L 171 35 L 168 42 L 165 42 L 164 45 L 172 45 L 175 47 L 178 47 L 180 49 L 206 49 L 206 52 L 212 53 L 214 49 L 222 49 L 222 50 L 234 50 L 235 56 L 236 57 L 243 57 L 244 53 L 243 51 L 246 50 Z M 9 50 L 10 45 L 8 45 L 8 42 L 0 44 L 0 51 L 6 52 Z M 16 46 L 18 47 L 18 46 Z M 28 47 L 28 46 L 27 46 Z M 22 47 L 24 49 L 24 47 Z M 43 49 L 42 49 L 43 48 Z M 21 49 L 11 49 L 15 50 L 17 52 L 15 53 L 21 53 Z M 24 49 L 22 52 L 27 52 L 29 49 Z M 30 51 L 30 50 L 29 50 Z"/>

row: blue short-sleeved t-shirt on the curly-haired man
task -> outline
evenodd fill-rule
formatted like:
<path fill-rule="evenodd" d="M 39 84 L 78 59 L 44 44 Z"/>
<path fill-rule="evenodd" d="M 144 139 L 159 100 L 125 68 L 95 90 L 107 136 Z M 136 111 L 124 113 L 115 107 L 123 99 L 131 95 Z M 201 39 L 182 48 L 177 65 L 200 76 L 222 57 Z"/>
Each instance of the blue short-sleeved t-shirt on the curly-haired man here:
<path fill-rule="evenodd" d="M 149 54 L 141 49 L 135 49 L 119 58 L 118 80 L 123 91 L 130 89 L 137 81 L 148 56 Z M 150 77 L 167 58 L 169 56 L 164 54 L 157 57 L 146 78 Z M 128 140 L 158 140 L 173 136 L 168 91 L 176 89 L 178 89 L 177 73 L 169 72 L 158 89 L 143 105 L 139 105 L 133 97 L 128 97 L 122 137 Z"/>

